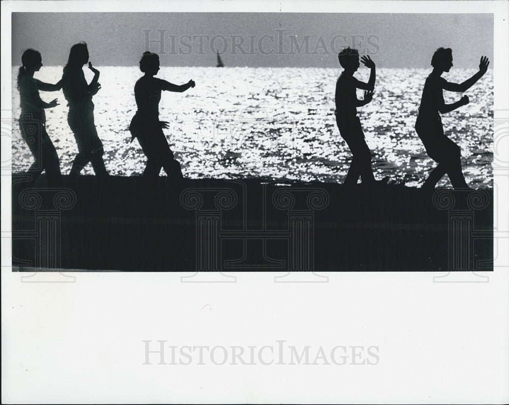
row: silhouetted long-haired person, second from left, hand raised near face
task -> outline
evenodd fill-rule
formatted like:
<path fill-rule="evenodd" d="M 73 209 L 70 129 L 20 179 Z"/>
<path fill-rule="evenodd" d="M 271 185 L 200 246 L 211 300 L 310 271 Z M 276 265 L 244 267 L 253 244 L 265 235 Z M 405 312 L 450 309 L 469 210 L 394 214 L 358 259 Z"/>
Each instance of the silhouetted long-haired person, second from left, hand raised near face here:
<path fill-rule="evenodd" d="M 85 80 L 82 68 L 87 62 L 89 62 L 87 44 L 81 42 L 73 45 L 62 76 L 62 89 L 69 106 L 67 122 L 78 146 L 78 154 L 72 163 L 69 177 L 71 182 L 76 184 L 79 172 L 90 162 L 97 178 L 104 184 L 108 179 L 108 173 L 102 159 L 104 153 L 102 142 L 94 124 L 92 102 L 92 97 L 97 94 L 101 85 L 98 83 L 99 71 L 92 67 L 90 62 L 89 69 L 94 73 L 94 78 L 90 84 Z"/>

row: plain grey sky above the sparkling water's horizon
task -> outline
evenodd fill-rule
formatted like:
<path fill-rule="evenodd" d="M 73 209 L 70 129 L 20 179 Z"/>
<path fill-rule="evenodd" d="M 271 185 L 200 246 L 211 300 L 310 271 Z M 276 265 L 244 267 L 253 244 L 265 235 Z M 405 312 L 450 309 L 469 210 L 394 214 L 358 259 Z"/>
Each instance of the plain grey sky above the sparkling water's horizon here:
<path fill-rule="evenodd" d="M 146 31 L 148 30 L 148 33 Z M 161 30 L 159 32 L 158 30 Z M 149 40 L 158 40 L 162 43 Z M 148 36 L 148 37 L 147 37 Z M 338 67 L 337 52 L 355 46 L 379 67 L 430 67 L 440 46 L 454 64 L 493 60 L 492 14 L 333 13 L 13 13 L 12 64 L 26 48 L 45 65 L 65 65 L 70 47 L 89 45 L 98 66 L 137 65 L 148 50 L 163 66 Z M 163 48 L 161 48 L 161 46 Z"/>

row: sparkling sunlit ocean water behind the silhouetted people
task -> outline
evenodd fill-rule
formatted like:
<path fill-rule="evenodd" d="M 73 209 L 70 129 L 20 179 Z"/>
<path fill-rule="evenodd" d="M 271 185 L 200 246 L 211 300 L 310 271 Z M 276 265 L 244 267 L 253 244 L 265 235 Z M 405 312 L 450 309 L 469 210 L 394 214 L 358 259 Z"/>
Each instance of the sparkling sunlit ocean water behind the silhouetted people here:
<path fill-rule="evenodd" d="M 137 67 L 98 67 L 102 89 L 94 97 L 95 122 L 104 144 L 107 170 L 117 176 L 138 176 L 146 158 L 127 130 L 136 111 Z M 92 73 L 84 68 L 90 81 Z M 188 178 L 251 177 L 342 183 L 351 154 L 334 119 L 334 89 L 340 69 L 162 67 L 157 77 L 181 84 L 193 79 L 185 93 L 163 92 L 160 120 L 171 149 Z M 12 171 L 29 168 L 33 157 L 21 138 L 17 68 L 13 67 Z M 375 176 L 390 176 L 407 186 L 422 184 L 436 165 L 414 130 L 422 86 L 430 69 L 377 69 L 373 101 L 358 108 Z M 461 82 L 475 70 L 453 68 L 444 75 Z M 62 67 L 44 66 L 35 77 L 46 82 L 61 78 Z M 367 81 L 369 70 L 355 74 Z M 46 110 L 46 128 L 67 174 L 77 153 L 67 124 L 62 92 L 40 92 L 60 105 Z M 443 114 L 445 133 L 462 150 L 469 185 L 492 188 L 493 71 L 468 92 L 470 104 Z M 362 92 L 358 93 L 359 98 Z M 461 95 L 444 92 L 445 101 Z M 82 171 L 93 174 L 90 164 Z M 164 175 L 164 171 L 161 171 Z M 439 186 L 450 187 L 447 176 Z"/>

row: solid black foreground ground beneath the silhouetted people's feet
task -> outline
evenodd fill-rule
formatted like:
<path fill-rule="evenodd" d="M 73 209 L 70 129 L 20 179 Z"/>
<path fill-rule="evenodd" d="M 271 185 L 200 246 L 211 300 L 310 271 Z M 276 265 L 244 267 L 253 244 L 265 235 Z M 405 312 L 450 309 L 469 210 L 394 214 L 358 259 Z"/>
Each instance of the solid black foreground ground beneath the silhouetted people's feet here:
<path fill-rule="evenodd" d="M 13 175 L 15 271 L 492 270 L 493 191 L 264 179 L 113 177 L 23 188 Z M 67 181 L 67 179 L 65 179 Z M 65 183 L 67 184 L 67 182 Z"/>

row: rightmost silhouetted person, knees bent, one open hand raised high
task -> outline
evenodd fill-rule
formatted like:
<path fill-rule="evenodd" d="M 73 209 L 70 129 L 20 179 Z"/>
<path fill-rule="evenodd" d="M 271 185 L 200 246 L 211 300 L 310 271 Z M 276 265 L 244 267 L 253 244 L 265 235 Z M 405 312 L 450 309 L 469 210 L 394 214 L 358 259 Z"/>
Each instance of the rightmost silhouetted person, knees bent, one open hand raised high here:
<path fill-rule="evenodd" d="M 449 83 L 443 77 L 453 67 L 453 51 L 450 48 L 438 48 L 433 54 L 431 66 L 433 71 L 426 79 L 419 113 L 415 123 L 415 131 L 422 140 L 426 153 L 438 163 L 421 189 L 425 192 L 434 190 L 439 180 L 447 173 L 455 189 L 470 189 L 465 181 L 461 168 L 460 147 L 444 134 L 440 113 L 453 111 L 469 103 L 467 96 L 452 104 L 445 104 L 443 90 L 463 93 L 486 73 L 490 64 L 486 56 L 482 56 L 479 71 L 463 83 Z"/>

